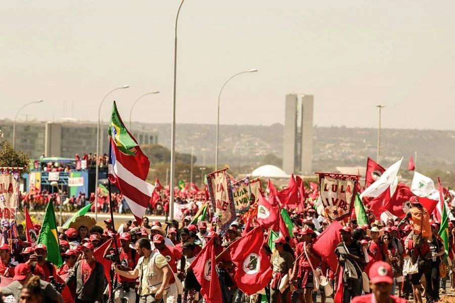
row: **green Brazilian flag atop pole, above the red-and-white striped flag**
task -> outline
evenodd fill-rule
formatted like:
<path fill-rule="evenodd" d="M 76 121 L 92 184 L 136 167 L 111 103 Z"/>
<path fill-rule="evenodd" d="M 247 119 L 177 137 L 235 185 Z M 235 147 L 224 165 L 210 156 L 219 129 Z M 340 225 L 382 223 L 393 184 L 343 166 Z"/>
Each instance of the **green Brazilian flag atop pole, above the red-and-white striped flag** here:
<path fill-rule="evenodd" d="M 111 124 L 109 126 L 109 135 L 117 145 L 118 149 L 126 155 L 134 156 L 134 147 L 138 146 L 138 143 L 134 141 L 131 135 L 126 130 L 122 119 L 117 111 L 117 105 L 112 106 Z"/>

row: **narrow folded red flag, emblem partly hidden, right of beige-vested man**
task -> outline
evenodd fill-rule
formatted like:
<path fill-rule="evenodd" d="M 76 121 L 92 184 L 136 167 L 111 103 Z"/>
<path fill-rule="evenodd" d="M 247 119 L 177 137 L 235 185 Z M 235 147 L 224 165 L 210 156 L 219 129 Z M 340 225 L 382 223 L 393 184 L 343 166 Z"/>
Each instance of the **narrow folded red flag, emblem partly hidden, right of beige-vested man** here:
<path fill-rule="evenodd" d="M 216 256 L 213 239 L 202 248 L 196 259 L 191 264 L 194 275 L 201 285 L 201 294 L 207 302 L 222 303 L 221 288 L 219 286 L 218 274 L 216 273 Z"/>

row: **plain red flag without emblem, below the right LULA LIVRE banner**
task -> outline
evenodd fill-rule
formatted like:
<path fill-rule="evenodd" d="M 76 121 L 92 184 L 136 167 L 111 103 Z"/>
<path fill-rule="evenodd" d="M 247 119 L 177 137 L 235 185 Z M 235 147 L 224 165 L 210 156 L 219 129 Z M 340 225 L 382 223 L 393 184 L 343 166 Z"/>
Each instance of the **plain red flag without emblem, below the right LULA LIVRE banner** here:
<path fill-rule="evenodd" d="M 337 270 L 338 259 L 335 255 L 335 249 L 341 242 L 340 228 L 343 225 L 339 221 L 332 222 L 311 245 L 311 248 L 330 266 L 333 271 Z"/>

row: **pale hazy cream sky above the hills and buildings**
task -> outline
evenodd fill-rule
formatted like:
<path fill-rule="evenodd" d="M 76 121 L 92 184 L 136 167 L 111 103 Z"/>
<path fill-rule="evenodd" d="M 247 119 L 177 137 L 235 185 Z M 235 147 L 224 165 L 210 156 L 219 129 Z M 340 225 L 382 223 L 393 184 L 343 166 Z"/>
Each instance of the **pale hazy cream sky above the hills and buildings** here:
<path fill-rule="evenodd" d="M 0 111 L 14 119 L 169 123 L 178 0 L 5 1 Z M 287 93 L 314 94 L 314 124 L 453 129 L 455 2 L 186 0 L 178 23 L 177 123 L 284 122 Z M 66 101 L 66 109 L 64 102 Z M 74 101 L 74 113 L 71 112 Z M 65 110 L 64 110 L 65 109 Z"/>

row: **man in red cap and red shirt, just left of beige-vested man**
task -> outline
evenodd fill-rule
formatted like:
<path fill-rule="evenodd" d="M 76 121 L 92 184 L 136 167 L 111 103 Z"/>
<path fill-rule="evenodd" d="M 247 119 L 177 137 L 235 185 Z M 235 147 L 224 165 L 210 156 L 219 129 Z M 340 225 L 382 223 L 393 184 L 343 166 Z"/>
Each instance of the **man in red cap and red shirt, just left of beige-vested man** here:
<path fill-rule="evenodd" d="M 139 254 L 130 247 L 131 235 L 128 232 L 122 232 L 119 239 L 122 247 L 118 248 L 118 251 L 109 254 L 112 249 L 111 245 L 104 252 L 104 258 L 115 262 L 120 270 L 131 271 L 138 264 Z M 136 301 L 136 293 L 134 291 L 136 279 L 116 274 L 114 283 L 116 283 L 113 291 L 114 303 L 134 303 Z"/>

